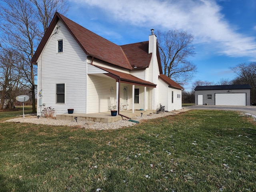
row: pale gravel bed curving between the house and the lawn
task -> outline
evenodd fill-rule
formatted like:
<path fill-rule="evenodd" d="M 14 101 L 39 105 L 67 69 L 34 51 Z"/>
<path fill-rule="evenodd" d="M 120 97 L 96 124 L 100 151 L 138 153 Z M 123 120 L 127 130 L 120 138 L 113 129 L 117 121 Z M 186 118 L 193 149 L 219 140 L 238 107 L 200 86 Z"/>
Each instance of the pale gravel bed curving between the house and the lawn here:
<path fill-rule="evenodd" d="M 176 111 L 176 112 L 161 112 L 161 113 L 154 113 L 150 115 L 142 115 L 136 116 L 132 118 L 132 120 L 136 120 L 138 122 L 141 122 L 143 120 L 147 119 L 153 119 L 153 118 L 160 118 L 168 115 L 174 115 L 182 111 Z M 102 123 L 102 122 L 93 122 L 93 121 L 80 121 L 78 120 L 56 120 L 55 118 L 37 118 L 36 116 L 25 116 L 25 118 L 14 118 L 6 120 L 6 122 L 20 122 L 20 123 L 32 123 L 32 124 L 44 124 L 44 125 L 53 125 L 53 126 L 76 126 L 80 128 L 86 128 L 86 129 L 94 129 L 94 130 L 108 130 L 108 129 L 118 129 L 121 127 L 129 127 L 133 126 L 136 123 L 130 122 L 128 120 L 119 120 L 116 122 L 110 122 L 110 123 Z"/>

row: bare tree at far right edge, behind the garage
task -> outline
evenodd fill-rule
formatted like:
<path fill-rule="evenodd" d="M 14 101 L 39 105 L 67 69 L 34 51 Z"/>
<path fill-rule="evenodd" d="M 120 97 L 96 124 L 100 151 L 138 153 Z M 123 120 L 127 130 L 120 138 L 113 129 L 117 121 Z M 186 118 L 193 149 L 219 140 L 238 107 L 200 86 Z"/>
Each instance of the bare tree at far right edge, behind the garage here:
<path fill-rule="evenodd" d="M 232 84 L 250 84 L 251 90 L 251 102 L 256 103 L 256 62 L 250 62 L 249 64 L 240 63 L 231 68 L 237 77 L 232 80 Z"/>

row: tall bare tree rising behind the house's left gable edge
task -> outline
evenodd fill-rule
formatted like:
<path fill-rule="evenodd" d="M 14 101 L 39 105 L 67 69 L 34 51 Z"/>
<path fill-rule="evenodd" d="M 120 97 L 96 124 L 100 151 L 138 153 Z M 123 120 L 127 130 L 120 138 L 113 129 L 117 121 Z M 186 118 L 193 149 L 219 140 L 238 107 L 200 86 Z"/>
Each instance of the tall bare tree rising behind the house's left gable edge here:
<path fill-rule="evenodd" d="M 32 112 L 36 112 L 36 66 L 31 63 L 35 48 L 47 30 L 54 15 L 67 11 L 65 0 L 3 0 L 0 6 L 0 29 L 4 32 L 2 40 L 6 46 L 18 50 L 24 61 L 24 75 L 30 84 Z"/>

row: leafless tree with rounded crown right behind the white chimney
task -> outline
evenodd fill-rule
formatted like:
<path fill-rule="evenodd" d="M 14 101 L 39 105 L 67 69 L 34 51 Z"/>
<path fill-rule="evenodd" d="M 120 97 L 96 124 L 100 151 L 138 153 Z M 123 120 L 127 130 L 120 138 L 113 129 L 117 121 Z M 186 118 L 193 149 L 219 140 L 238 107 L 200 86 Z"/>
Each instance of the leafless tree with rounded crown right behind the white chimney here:
<path fill-rule="evenodd" d="M 188 58 L 194 56 L 194 37 L 187 32 L 170 30 L 156 32 L 164 74 L 178 84 L 185 84 L 196 72 L 196 65 Z"/>

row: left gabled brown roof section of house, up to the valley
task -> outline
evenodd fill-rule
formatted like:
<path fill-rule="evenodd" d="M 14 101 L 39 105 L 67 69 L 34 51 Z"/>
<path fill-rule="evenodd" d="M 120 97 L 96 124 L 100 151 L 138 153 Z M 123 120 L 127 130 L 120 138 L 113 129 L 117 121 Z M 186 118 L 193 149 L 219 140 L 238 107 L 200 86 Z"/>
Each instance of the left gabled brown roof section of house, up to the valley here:
<path fill-rule="evenodd" d="M 46 42 L 48 41 L 48 38 L 50 37 L 50 34 L 54 30 L 59 20 L 63 22 L 70 34 L 72 34 L 76 42 L 87 55 L 122 68 L 132 69 L 132 66 L 130 65 L 120 46 L 80 26 L 76 22 L 73 22 L 58 12 L 55 13 L 46 34 L 40 42 L 34 57 L 32 58 L 32 62 L 36 62 L 38 59 L 44 46 L 46 45 Z"/>

